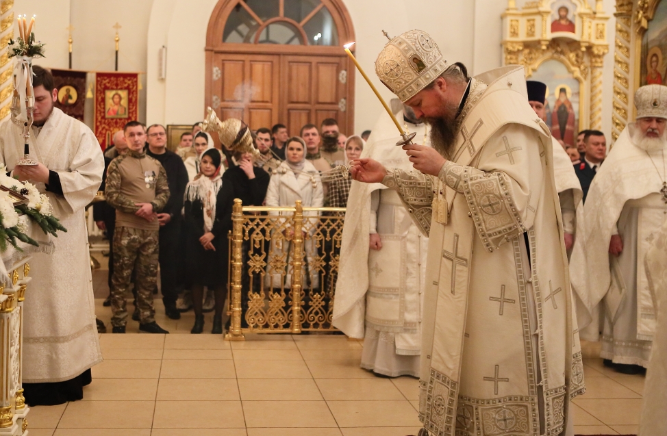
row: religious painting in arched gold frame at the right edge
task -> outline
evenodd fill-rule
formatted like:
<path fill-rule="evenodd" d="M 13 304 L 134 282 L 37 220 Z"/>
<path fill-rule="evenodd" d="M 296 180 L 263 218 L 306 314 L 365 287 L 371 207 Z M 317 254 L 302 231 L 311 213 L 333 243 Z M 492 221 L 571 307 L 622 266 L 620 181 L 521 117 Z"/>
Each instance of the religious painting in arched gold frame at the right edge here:
<path fill-rule="evenodd" d="M 642 40 L 640 83 L 663 85 L 667 81 L 667 1 L 661 1 Z"/>

